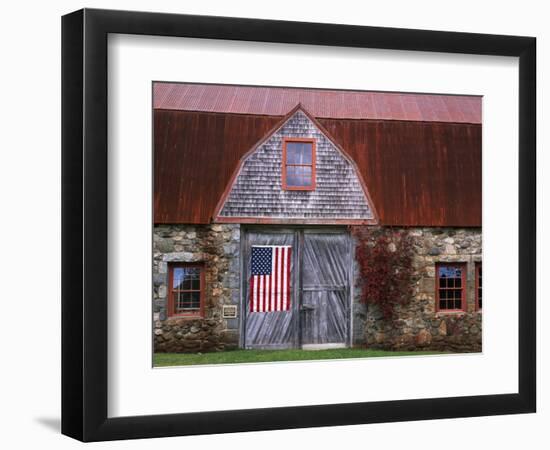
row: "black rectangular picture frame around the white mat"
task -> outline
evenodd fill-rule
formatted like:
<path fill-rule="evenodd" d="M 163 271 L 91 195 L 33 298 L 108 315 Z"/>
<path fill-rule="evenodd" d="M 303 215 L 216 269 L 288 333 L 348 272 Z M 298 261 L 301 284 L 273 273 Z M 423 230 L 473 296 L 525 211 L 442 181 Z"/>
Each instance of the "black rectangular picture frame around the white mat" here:
<path fill-rule="evenodd" d="M 107 36 L 519 57 L 518 393 L 107 417 Z M 530 413 L 536 409 L 536 39 L 84 9 L 62 18 L 62 433 L 82 441 Z"/>

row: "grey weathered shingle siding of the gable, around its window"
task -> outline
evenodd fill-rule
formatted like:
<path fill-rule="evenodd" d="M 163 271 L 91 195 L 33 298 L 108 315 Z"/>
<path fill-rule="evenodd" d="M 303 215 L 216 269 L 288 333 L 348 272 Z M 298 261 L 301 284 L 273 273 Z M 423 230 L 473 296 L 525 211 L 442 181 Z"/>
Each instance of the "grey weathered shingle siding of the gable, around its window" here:
<path fill-rule="evenodd" d="M 282 189 L 283 137 L 316 139 L 314 191 Z M 372 220 L 374 214 L 355 167 L 298 110 L 243 162 L 219 217 Z"/>

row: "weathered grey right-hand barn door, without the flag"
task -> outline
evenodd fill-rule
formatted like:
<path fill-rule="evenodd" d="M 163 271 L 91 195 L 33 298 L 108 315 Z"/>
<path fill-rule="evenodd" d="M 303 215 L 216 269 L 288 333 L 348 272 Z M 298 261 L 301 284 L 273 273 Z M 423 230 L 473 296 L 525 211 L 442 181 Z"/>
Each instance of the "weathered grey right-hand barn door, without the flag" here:
<path fill-rule="evenodd" d="M 306 232 L 302 242 L 302 347 L 346 347 L 351 264 L 348 235 Z"/>

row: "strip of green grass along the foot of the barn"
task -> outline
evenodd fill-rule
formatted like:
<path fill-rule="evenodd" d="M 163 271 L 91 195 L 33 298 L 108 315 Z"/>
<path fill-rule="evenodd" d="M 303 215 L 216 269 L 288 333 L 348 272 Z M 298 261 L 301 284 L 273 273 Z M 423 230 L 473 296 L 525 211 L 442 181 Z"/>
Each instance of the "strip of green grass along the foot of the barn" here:
<path fill-rule="evenodd" d="M 379 358 L 382 356 L 434 355 L 438 352 L 402 352 L 342 348 L 329 350 L 231 350 L 213 353 L 155 353 L 155 367 L 195 364 L 237 364 L 270 361 L 308 361 L 342 358 Z"/>

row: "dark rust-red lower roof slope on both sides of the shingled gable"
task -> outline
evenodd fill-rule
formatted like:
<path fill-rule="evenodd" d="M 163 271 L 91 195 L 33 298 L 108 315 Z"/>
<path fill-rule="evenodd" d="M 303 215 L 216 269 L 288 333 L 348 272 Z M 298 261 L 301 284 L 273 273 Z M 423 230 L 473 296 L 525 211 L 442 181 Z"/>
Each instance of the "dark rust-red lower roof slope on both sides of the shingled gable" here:
<path fill-rule="evenodd" d="M 155 223 L 210 223 L 240 158 L 281 117 L 154 112 Z M 320 118 L 380 223 L 481 226 L 481 125 Z"/>

